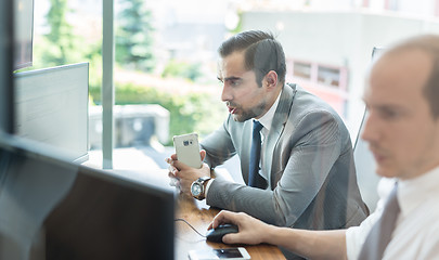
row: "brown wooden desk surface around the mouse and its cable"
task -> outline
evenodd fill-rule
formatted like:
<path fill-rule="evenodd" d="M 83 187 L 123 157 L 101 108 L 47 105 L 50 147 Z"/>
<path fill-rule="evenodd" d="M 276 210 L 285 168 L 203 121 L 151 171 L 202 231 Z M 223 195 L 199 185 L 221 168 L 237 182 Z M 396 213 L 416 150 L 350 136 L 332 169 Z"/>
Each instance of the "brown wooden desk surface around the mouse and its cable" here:
<path fill-rule="evenodd" d="M 207 206 L 205 200 L 198 202 L 182 194 L 178 197 L 177 207 L 176 218 L 184 219 L 202 234 L 206 233 L 210 221 L 219 212 L 218 209 Z M 198 235 L 183 221 L 176 222 L 176 260 L 188 260 L 188 252 L 194 249 L 229 247 L 236 247 L 236 245 L 206 242 L 205 237 Z M 257 245 L 244 247 L 250 255 L 251 260 L 285 259 L 284 255 L 275 246 Z"/>

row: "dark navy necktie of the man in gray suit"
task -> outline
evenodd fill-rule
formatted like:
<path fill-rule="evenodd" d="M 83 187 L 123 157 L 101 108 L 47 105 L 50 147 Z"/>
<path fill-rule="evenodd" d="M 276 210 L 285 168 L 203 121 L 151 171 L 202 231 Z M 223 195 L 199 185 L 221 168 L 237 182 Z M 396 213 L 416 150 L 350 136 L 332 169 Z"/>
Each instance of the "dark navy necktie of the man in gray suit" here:
<path fill-rule="evenodd" d="M 259 174 L 259 161 L 260 161 L 260 130 L 262 125 L 259 121 L 253 121 L 253 140 L 251 140 L 251 151 L 250 151 L 250 167 L 248 176 L 248 185 L 253 187 L 266 188 L 267 182 Z"/>

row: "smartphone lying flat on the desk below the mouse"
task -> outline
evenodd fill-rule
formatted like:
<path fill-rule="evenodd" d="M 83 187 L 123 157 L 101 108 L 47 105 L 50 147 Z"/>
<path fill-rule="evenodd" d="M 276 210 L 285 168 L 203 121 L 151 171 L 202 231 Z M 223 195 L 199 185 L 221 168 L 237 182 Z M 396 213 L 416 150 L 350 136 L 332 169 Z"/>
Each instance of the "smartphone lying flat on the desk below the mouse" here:
<path fill-rule="evenodd" d="M 191 260 L 214 260 L 214 259 L 228 259 L 228 260 L 248 260 L 250 255 L 244 247 L 222 248 L 222 249 L 204 249 L 189 251 Z"/>

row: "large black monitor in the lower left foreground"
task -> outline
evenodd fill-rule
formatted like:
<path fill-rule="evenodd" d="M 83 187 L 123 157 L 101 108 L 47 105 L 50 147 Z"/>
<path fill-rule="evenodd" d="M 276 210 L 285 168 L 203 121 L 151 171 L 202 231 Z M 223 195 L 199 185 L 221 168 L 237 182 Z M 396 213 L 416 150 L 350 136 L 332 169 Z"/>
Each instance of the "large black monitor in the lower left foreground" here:
<path fill-rule="evenodd" d="M 0 134 L 0 259 L 173 259 L 172 191 L 62 154 Z"/>

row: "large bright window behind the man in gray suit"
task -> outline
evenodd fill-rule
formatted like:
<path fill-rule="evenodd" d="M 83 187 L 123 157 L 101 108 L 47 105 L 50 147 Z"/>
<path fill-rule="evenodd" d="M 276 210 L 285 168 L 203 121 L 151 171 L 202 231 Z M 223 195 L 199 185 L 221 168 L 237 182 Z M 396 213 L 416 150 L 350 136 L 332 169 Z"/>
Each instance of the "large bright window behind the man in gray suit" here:
<path fill-rule="evenodd" d="M 373 48 L 422 32 L 438 34 L 438 4 L 115 0 L 115 160 L 125 156 L 118 151 L 133 148 L 166 168 L 173 135 L 197 132 L 202 141 L 220 127 L 228 109 L 217 80 L 217 48 L 248 29 L 276 36 L 288 63 L 287 81 L 330 103 L 356 140 Z M 89 148 L 100 153 L 102 0 L 38 0 L 35 10 L 34 68 L 90 63 Z"/>

